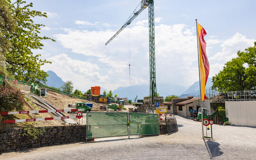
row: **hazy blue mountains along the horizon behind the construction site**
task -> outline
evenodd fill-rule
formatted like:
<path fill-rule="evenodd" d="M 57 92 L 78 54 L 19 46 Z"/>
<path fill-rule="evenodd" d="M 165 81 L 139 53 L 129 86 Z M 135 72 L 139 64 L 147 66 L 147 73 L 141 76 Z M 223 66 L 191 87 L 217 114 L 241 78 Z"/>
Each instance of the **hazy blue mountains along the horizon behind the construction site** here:
<path fill-rule="evenodd" d="M 47 77 L 47 85 L 52 86 L 55 88 L 59 88 L 62 86 L 65 82 L 56 75 L 53 71 L 47 71 L 47 74 L 49 75 Z M 208 78 L 206 89 L 209 89 L 212 86 L 212 78 Z M 186 90 L 187 89 L 187 90 Z M 106 91 L 108 93 L 108 90 L 105 88 L 100 89 L 100 94 L 103 94 L 103 92 Z M 82 91 L 84 93 L 85 91 Z M 127 87 L 118 87 L 117 89 L 112 91 L 113 95 L 117 94 L 118 97 L 125 97 L 129 100 L 134 100 L 136 95 L 138 95 L 138 99 L 143 99 L 144 96 L 149 95 L 149 85 L 143 84 L 143 85 L 131 85 Z M 160 94 L 160 96 L 168 96 L 168 95 L 179 95 L 180 98 L 187 97 L 188 95 L 192 96 L 198 96 L 200 94 L 199 92 L 199 81 L 195 82 L 190 87 L 185 87 L 181 85 L 175 85 L 175 84 L 168 84 L 168 83 L 159 83 L 157 84 L 157 93 Z"/>

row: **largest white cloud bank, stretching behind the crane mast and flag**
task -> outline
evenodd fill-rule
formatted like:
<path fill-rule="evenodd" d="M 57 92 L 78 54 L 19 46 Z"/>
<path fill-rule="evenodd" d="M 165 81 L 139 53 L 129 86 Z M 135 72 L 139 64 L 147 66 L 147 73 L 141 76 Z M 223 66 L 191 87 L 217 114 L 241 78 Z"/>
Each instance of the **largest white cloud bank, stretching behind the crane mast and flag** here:
<path fill-rule="evenodd" d="M 63 47 L 71 49 L 72 52 L 93 57 L 93 61 L 98 64 L 98 69 L 100 69 L 95 75 L 108 79 L 99 85 L 113 90 L 119 86 L 149 82 L 148 26 L 141 25 L 144 24 L 144 21 L 136 24 L 131 28 L 124 29 L 107 46 L 105 43 L 116 31 L 64 29 L 66 33 L 55 35 L 55 37 Z M 170 26 L 159 24 L 155 25 L 155 33 L 157 83 L 189 86 L 198 81 L 195 28 L 187 28 L 186 24 Z M 217 74 L 224 63 L 230 60 L 234 53 L 236 54 L 237 50 L 252 46 L 254 41 L 239 33 L 226 40 L 208 39 L 207 55 L 214 55 L 208 56 L 209 76 Z M 219 45 L 222 51 L 217 53 L 217 49 L 213 48 L 213 45 Z M 131 84 L 129 84 L 129 55 Z M 73 71 L 78 72 L 77 70 Z M 83 70 L 80 73 L 82 72 Z M 86 80 L 88 84 L 92 84 L 94 81 L 93 79 Z"/>

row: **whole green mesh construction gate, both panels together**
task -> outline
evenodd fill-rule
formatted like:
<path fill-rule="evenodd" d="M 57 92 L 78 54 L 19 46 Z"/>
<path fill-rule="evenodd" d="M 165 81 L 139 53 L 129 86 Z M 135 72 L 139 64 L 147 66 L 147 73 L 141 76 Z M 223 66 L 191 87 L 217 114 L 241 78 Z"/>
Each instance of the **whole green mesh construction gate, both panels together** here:
<path fill-rule="evenodd" d="M 87 113 L 87 139 L 159 135 L 158 114 L 150 113 Z"/>

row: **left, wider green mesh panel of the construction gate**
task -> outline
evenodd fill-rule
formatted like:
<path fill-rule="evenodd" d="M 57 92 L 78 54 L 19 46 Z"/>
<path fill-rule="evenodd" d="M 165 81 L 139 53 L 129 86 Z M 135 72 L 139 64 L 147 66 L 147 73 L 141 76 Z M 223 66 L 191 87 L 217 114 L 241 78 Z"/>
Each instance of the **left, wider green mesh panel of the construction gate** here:
<path fill-rule="evenodd" d="M 87 113 L 87 139 L 128 135 L 128 113 Z"/>

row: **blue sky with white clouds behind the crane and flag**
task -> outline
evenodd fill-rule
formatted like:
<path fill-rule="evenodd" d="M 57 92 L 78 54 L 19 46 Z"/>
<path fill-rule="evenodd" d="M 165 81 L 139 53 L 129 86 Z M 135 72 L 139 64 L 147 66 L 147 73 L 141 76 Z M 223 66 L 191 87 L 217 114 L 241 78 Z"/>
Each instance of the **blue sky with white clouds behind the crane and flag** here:
<path fill-rule="evenodd" d="M 28 1 L 29 2 L 29 1 Z M 148 9 L 105 46 L 139 4 L 139 0 L 33 0 L 34 9 L 48 13 L 41 34 L 41 58 L 75 88 L 106 89 L 149 82 Z M 189 86 L 198 81 L 195 19 L 207 31 L 210 74 L 217 74 L 237 50 L 256 41 L 255 0 L 155 0 L 157 83 Z M 130 50 L 130 52 L 129 52 Z M 131 83 L 128 64 L 131 64 Z"/>

